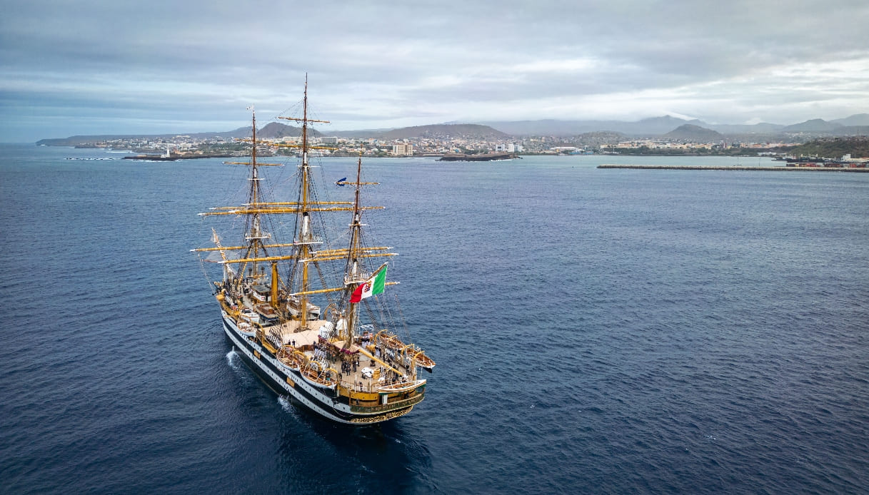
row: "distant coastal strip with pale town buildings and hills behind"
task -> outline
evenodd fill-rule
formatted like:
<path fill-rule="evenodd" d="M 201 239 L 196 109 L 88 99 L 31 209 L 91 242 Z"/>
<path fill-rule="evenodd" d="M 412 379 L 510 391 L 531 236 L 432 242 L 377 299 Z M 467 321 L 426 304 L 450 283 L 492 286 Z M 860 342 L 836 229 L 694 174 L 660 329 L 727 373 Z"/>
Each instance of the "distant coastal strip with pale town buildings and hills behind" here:
<path fill-rule="evenodd" d="M 593 131 L 579 135 L 508 135 L 481 124 L 437 124 L 388 131 L 343 131 L 324 135 L 312 130 L 308 141 L 318 145 L 323 156 L 439 156 L 447 159 L 516 155 L 793 155 L 852 160 L 869 157 L 867 126 L 854 127 L 857 135 L 835 135 L 824 130 L 779 132 L 778 134 L 721 134 L 693 124 L 682 124 L 670 132 L 627 135 L 614 131 Z M 869 129 L 869 128 L 867 128 Z M 223 133 L 185 135 L 102 135 L 45 139 L 36 144 L 112 148 L 129 150 L 131 158 L 164 160 L 235 156 L 248 154 L 250 128 Z M 295 155 L 292 145 L 301 141 L 301 129 L 271 122 L 257 129 L 264 143 L 290 147 L 263 146 L 260 155 Z"/>

